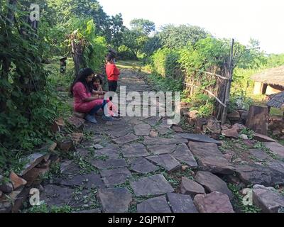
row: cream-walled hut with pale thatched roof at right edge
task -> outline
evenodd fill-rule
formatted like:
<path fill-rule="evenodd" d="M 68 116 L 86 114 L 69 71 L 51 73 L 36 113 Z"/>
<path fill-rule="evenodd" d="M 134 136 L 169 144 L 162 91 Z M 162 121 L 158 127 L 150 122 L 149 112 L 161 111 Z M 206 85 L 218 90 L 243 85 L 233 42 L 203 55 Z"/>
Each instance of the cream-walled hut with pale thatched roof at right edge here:
<path fill-rule="evenodd" d="M 254 94 L 275 94 L 284 91 L 284 65 L 254 74 Z"/>

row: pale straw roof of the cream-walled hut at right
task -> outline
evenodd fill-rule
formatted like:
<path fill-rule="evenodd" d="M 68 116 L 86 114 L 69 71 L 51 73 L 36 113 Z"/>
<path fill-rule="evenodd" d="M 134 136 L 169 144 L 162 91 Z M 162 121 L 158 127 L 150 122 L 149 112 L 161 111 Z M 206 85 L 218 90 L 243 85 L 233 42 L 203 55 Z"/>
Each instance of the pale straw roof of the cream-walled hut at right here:
<path fill-rule="evenodd" d="M 251 79 L 263 84 L 281 85 L 284 87 L 284 65 L 254 74 Z"/>

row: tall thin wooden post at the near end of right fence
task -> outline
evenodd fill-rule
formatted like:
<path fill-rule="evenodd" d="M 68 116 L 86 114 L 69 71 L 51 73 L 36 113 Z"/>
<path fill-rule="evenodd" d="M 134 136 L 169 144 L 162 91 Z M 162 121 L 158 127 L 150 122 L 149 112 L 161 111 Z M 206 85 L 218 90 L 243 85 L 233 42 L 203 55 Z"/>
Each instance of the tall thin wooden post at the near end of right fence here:
<path fill-rule="evenodd" d="M 231 54 L 229 58 L 229 70 L 228 70 L 228 81 L 226 82 L 226 90 L 225 90 L 225 105 L 222 113 L 222 124 L 226 123 L 226 115 L 229 106 L 230 92 L 231 92 L 231 80 L 233 78 L 233 55 L 234 55 L 234 39 L 231 40 Z"/>

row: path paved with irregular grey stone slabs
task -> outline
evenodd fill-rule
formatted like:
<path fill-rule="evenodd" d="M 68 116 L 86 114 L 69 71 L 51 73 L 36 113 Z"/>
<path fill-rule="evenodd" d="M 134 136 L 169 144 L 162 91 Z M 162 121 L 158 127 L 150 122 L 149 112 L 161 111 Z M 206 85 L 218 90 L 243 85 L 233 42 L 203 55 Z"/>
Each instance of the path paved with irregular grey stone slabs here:
<path fill-rule="evenodd" d="M 127 70 L 122 70 L 119 85 L 126 86 L 126 92 L 151 90 Z M 138 101 L 136 104 L 143 109 Z M 278 163 L 277 170 L 273 161 L 266 169 L 235 167 L 223 157 L 219 141 L 205 135 L 174 133 L 160 117 L 126 116 L 121 121 L 105 122 L 98 116 L 97 120 L 96 125 L 85 123 L 85 130 L 94 136 L 77 148 L 75 160 L 63 162 L 61 175 L 43 186 L 41 199 L 48 206 L 68 205 L 82 213 L 233 212 L 231 191 L 213 174 L 236 172 L 248 184 L 284 179 L 283 162 Z M 192 170 L 203 172 L 194 176 Z M 258 177 L 262 172 L 268 179 Z M 219 202 L 209 206 L 215 197 Z"/>

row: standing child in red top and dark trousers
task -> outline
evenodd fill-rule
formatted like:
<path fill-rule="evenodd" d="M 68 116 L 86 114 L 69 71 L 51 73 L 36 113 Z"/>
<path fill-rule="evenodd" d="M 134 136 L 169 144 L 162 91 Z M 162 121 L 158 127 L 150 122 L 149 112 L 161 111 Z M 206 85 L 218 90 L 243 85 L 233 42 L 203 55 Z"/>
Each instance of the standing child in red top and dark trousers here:
<path fill-rule="evenodd" d="M 115 55 L 111 52 L 107 54 L 106 60 L 106 73 L 107 73 L 107 81 L 109 83 L 109 92 L 116 92 L 117 82 L 119 80 L 119 69 L 116 67 L 114 63 Z"/>

